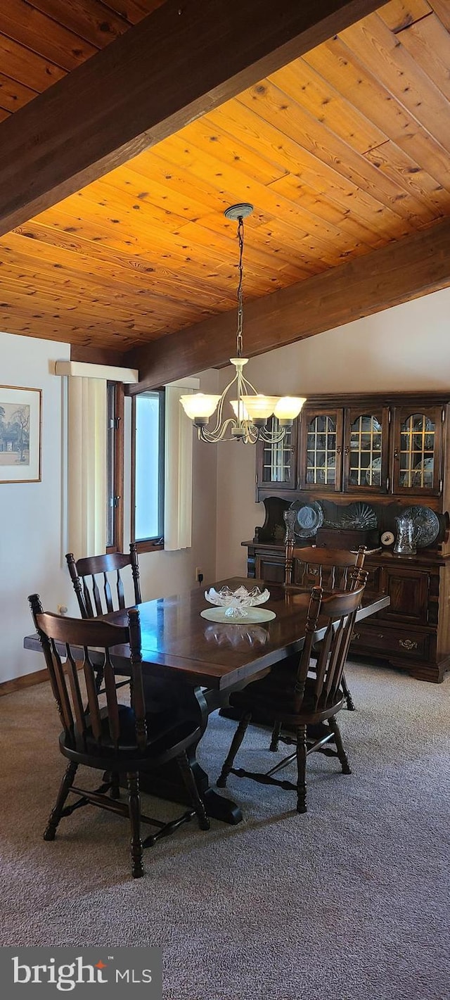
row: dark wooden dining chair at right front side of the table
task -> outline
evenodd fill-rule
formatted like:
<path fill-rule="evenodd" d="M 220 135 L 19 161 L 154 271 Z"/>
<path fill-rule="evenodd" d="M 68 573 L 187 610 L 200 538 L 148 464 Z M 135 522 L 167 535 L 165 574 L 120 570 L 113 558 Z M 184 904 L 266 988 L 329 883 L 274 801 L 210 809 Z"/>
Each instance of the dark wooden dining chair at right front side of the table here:
<path fill-rule="evenodd" d="M 305 644 L 297 670 L 285 670 L 281 662 L 262 680 L 254 681 L 230 696 L 231 706 L 239 710 L 240 722 L 217 781 L 220 788 L 224 788 L 228 775 L 234 774 L 238 778 L 251 778 L 264 785 L 292 789 L 297 792 L 297 812 L 304 813 L 308 754 L 318 751 L 327 756 L 338 757 L 342 772 L 351 773 L 336 715 L 344 702 L 342 673 L 363 591 L 364 586 L 353 591 L 325 594 L 322 587 L 313 587 L 308 606 Z M 311 676 L 311 653 L 318 627 L 325 627 L 325 634 L 320 642 Z M 284 743 L 295 745 L 294 753 L 265 773 L 234 767 L 236 754 L 253 715 L 275 717 L 281 730 L 279 738 Z M 307 727 L 318 725 L 321 726 L 318 738 L 308 738 Z M 286 732 L 283 727 L 286 727 Z M 292 735 L 292 730 L 296 735 Z M 329 745 L 332 741 L 335 750 Z M 274 777 L 295 758 L 295 784 Z"/>

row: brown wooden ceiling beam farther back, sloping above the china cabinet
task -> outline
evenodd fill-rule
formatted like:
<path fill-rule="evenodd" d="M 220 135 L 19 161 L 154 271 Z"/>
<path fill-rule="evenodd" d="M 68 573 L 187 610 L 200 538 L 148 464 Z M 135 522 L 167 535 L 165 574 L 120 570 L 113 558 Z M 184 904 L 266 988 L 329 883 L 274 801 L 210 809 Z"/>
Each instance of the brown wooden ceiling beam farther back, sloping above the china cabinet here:
<path fill-rule="evenodd" d="M 450 285 L 450 220 L 244 306 L 244 353 L 264 354 Z M 130 351 L 130 393 L 219 367 L 235 354 L 236 311 Z"/>

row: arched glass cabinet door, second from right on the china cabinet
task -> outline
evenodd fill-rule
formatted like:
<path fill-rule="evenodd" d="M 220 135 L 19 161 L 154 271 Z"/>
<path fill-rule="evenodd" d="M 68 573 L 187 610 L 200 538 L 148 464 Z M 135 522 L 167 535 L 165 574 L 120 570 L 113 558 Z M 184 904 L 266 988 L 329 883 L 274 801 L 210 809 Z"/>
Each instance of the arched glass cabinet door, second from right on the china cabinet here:
<path fill-rule="evenodd" d="M 388 486 L 389 410 L 345 412 L 344 489 L 385 493 Z"/>

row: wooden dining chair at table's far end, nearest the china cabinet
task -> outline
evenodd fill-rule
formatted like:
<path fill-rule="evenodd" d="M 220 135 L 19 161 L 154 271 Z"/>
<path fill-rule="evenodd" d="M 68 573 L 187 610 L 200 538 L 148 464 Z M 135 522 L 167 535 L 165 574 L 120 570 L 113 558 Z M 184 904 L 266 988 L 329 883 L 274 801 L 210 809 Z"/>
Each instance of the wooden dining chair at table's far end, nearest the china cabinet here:
<path fill-rule="evenodd" d="M 325 590 L 355 590 L 367 579 L 367 573 L 363 571 L 365 554 L 364 545 L 357 552 L 349 552 L 312 545 L 302 548 L 289 541 L 285 554 L 285 586 L 310 589 L 318 585 Z M 312 653 L 315 654 L 314 649 Z M 345 674 L 341 683 L 347 708 L 349 712 L 354 712 L 355 705 Z"/>

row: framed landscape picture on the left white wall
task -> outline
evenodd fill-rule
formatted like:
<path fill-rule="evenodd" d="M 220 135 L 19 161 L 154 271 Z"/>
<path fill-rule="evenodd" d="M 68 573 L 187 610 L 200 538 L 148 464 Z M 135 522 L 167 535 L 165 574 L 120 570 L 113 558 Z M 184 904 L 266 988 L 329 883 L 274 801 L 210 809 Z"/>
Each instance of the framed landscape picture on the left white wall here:
<path fill-rule="evenodd" d="M 0 483 L 41 478 L 41 390 L 0 385 Z"/>

